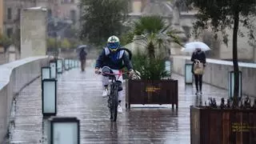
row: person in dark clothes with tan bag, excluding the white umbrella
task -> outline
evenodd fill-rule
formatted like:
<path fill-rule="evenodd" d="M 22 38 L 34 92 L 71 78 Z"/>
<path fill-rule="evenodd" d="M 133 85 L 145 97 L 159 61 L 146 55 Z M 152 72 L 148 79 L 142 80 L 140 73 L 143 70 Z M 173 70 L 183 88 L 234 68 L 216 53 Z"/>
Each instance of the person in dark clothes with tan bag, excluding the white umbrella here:
<path fill-rule="evenodd" d="M 192 54 L 191 61 L 193 62 L 192 73 L 194 74 L 196 94 L 202 94 L 202 74 L 206 66 L 206 54 L 197 48 Z"/>

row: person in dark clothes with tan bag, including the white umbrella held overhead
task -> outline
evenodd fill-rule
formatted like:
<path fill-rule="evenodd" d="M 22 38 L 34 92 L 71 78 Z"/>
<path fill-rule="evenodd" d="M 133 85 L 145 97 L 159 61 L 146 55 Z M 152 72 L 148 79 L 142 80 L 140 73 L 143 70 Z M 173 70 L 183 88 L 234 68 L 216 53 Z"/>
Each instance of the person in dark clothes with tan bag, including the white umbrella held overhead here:
<path fill-rule="evenodd" d="M 210 47 L 203 42 L 189 42 L 185 45 L 185 49 L 182 51 L 193 52 L 191 56 L 192 74 L 194 74 L 194 81 L 196 86 L 196 95 L 202 94 L 202 75 L 206 66 L 206 54 L 204 51 L 210 50 Z"/>

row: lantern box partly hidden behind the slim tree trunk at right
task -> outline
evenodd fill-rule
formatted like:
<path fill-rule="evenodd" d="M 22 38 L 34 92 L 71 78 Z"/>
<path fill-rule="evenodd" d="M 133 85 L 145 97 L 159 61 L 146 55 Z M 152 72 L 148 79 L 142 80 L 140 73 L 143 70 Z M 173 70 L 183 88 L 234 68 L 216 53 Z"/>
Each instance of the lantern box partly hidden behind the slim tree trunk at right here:
<path fill-rule="evenodd" d="M 238 90 L 238 98 L 242 98 L 242 71 L 239 70 L 239 90 Z M 229 72 L 229 79 L 228 79 L 228 90 L 229 90 L 229 97 L 231 99 L 234 98 L 234 71 Z"/>

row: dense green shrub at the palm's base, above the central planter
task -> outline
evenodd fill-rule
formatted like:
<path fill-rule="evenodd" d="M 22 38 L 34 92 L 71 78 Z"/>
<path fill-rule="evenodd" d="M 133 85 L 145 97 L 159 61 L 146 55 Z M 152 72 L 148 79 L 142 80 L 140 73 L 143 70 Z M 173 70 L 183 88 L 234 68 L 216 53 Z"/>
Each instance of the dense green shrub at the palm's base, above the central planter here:
<path fill-rule="evenodd" d="M 134 70 L 141 73 L 142 79 L 159 80 L 170 77 L 170 73 L 166 71 L 165 58 L 158 55 L 156 58 L 149 58 L 146 53 L 138 51 L 132 58 Z"/>

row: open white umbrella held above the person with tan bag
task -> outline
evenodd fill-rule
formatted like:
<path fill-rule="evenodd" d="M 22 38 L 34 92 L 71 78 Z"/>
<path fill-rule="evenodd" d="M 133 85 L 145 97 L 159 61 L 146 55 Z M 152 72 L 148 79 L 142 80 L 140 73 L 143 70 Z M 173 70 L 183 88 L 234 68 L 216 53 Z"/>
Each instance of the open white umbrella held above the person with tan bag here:
<path fill-rule="evenodd" d="M 182 48 L 182 51 L 193 52 L 197 48 L 200 48 L 202 51 L 210 50 L 210 47 L 204 42 L 188 42 L 186 43 L 185 48 Z"/>

